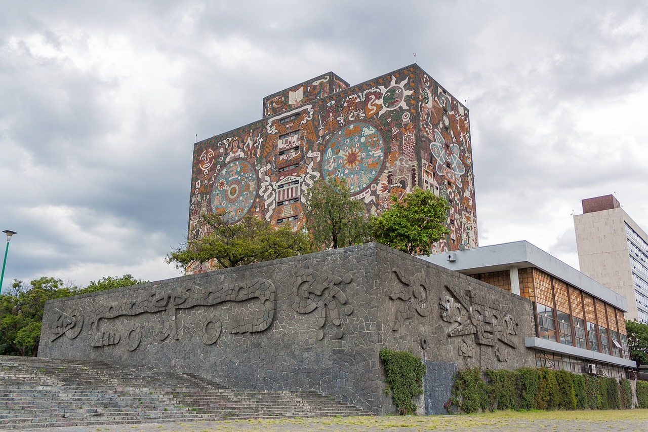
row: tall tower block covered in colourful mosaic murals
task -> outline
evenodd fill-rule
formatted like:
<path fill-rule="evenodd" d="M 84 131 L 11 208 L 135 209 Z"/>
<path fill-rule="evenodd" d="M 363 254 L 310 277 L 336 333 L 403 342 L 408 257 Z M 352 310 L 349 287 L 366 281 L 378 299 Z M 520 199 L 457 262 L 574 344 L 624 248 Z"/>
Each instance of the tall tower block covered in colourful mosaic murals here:
<path fill-rule="evenodd" d="M 356 86 L 329 72 L 265 97 L 263 115 L 196 143 L 189 239 L 207 234 L 200 215 L 218 211 L 301 229 L 304 192 L 333 176 L 371 214 L 393 194 L 432 189 L 451 206 L 434 252 L 478 246 L 469 112 L 419 66 Z"/>

